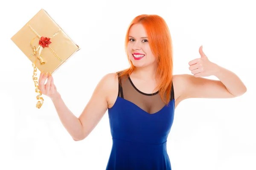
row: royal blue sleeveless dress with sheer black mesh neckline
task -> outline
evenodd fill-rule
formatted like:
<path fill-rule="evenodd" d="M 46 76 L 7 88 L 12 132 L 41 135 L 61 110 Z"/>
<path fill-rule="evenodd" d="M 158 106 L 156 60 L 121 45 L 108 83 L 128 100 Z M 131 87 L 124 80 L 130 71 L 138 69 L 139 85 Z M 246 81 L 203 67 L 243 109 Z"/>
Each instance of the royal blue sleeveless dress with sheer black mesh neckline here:
<path fill-rule="evenodd" d="M 166 142 L 174 120 L 173 85 L 169 105 L 163 106 L 158 91 L 145 94 L 128 80 L 119 83 L 108 108 L 113 145 L 106 170 L 171 170 Z"/>

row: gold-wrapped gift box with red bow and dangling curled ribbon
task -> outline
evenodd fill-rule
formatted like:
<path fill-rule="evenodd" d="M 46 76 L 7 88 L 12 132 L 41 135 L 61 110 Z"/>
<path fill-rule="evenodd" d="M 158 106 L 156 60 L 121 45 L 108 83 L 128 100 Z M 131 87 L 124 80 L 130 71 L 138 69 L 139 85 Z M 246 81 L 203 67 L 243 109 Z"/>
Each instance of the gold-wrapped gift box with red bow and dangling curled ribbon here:
<path fill-rule="evenodd" d="M 60 26 L 41 9 L 26 23 L 11 40 L 28 57 L 34 67 L 33 80 L 38 92 L 36 107 L 40 108 L 44 99 L 37 85 L 36 71 L 53 74 L 76 51 L 79 46 L 61 29 Z"/>

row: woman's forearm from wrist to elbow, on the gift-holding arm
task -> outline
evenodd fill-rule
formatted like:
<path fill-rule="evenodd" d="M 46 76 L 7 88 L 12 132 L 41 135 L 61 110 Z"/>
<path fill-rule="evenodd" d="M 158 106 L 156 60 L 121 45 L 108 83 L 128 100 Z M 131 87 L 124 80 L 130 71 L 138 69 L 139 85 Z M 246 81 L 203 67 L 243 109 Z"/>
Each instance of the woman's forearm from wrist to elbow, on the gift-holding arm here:
<path fill-rule="evenodd" d="M 58 113 L 59 119 L 61 120 L 62 125 L 70 133 L 72 138 L 77 141 L 82 139 L 83 136 L 83 126 L 81 125 L 80 120 L 67 108 L 61 95 L 58 94 L 52 102 L 55 106 L 55 109 Z"/>

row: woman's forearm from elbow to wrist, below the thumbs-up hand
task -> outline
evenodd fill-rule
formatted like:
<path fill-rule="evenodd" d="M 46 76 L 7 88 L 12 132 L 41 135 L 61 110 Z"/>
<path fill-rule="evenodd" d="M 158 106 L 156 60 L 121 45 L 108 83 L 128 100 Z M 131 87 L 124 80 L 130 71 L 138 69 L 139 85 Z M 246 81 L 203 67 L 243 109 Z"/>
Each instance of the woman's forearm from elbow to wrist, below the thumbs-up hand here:
<path fill-rule="evenodd" d="M 241 79 L 235 73 L 227 70 L 226 68 L 216 65 L 216 72 L 214 76 L 216 76 L 234 96 L 241 96 L 247 91 L 247 88 Z"/>

